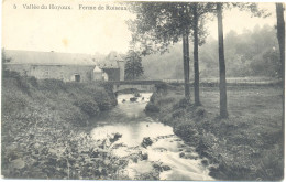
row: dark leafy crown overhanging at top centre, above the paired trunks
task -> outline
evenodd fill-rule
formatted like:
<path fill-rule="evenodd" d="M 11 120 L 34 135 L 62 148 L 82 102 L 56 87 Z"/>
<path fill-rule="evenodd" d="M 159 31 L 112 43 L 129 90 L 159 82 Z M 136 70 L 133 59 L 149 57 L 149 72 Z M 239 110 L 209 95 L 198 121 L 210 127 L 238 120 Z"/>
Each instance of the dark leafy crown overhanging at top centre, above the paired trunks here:
<path fill-rule="evenodd" d="M 211 10 L 211 3 L 191 2 L 134 2 L 131 11 L 136 19 L 129 22 L 133 32 L 133 46 L 143 55 L 166 52 L 168 46 L 182 40 L 184 31 L 193 25 L 193 8 L 198 4 L 199 15 Z M 199 42 L 205 41 L 204 19 L 199 21 Z M 191 33 L 191 32 L 190 32 Z"/>

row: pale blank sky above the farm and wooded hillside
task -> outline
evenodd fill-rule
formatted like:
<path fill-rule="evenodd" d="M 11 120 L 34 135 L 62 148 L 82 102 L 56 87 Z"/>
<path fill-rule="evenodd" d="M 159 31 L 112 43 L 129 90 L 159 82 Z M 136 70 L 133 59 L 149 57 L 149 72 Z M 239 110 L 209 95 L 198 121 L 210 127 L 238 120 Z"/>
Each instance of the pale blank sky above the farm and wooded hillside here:
<path fill-rule="evenodd" d="M 30 4 L 35 9 L 24 8 Z M 43 6 L 70 6 L 70 10 L 41 9 Z M 96 7 L 84 10 L 79 7 Z M 38 6 L 38 7 L 37 7 Z M 131 32 L 125 21 L 134 17 L 128 10 L 98 10 L 116 3 L 95 0 L 4 0 L 2 2 L 2 47 L 7 50 L 55 51 L 69 53 L 127 53 Z M 118 4 L 118 7 L 124 7 Z M 260 3 L 273 12 L 268 18 L 251 18 L 249 12 L 224 12 L 224 34 L 238 33 L 258 24 L 276 23 L 275 4 Z M 38 8 L 38 9 L 36 9 Z M 210 36 L 217 39 L 217 19 L 208 22 Z"/>

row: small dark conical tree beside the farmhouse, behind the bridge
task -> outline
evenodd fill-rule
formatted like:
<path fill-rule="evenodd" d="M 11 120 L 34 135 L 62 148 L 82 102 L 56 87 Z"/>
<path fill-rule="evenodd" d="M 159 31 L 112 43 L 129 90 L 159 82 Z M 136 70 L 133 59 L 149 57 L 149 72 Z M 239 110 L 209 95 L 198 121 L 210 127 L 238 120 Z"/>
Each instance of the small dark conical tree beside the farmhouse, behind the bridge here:
<path fill-rule="evenodd" d="M 125 79 L 136 79 L 144 74 L 141 56 L 130 50 L 125 57 Z"/>

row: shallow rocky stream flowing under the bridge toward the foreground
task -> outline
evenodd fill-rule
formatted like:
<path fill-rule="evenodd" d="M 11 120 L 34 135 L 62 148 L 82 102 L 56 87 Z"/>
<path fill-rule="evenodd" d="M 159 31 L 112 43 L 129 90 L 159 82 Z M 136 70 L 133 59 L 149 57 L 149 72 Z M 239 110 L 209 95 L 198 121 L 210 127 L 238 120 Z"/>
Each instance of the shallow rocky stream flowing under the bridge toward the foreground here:
<path fill-rule="evenodd" d="M 114 141 L 106 141 L 108 152 L 128 161 L 119 179 L 213 180 L 195 148 L 174 135 L 172 127 L 145 115 L 151 95 L 141 93 L 136 101 L 130 101 L 133 94 L 119 95 L 118 106 L 90 128 L 96 141 L 117 136 Z"/>

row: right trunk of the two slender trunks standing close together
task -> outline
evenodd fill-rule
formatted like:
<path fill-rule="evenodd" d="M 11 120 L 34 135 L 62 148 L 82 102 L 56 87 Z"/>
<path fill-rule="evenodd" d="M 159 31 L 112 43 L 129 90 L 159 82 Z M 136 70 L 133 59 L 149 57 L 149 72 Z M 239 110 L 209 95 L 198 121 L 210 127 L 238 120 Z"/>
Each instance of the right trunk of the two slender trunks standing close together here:
<path fill-rule="evenodd" d="M 197 3 L 194 6 L 194 94 L 195 94 L 195 105 L 200 106 L 199 99 L 199 41 L 198 41 L 198 12 Z"/>

